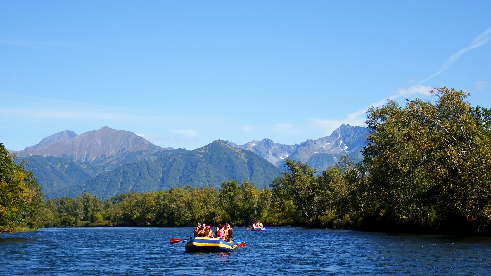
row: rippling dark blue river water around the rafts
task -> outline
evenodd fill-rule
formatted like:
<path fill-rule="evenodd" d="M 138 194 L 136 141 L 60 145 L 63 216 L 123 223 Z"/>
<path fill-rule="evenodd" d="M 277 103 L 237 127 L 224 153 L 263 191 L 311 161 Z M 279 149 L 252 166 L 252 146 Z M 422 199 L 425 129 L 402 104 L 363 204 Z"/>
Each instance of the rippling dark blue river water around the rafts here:
<path fill-rule="evenodd" d="M 234 228 L 232 253 L 186 253 L 192 227 L 43 228 L 0 234 L 1 276 L 491 275 L 491 238 Z"/>

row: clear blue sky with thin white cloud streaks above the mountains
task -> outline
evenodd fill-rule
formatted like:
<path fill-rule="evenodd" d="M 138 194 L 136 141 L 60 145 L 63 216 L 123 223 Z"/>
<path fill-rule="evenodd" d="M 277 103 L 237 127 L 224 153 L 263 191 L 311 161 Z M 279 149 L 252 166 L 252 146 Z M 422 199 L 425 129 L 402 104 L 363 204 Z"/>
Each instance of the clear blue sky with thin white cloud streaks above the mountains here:
<path fill-rule="evenodd" d="M 108 126 L 282 144 L 388 98 L 491 108 L 491 1 L 1 1 L 0 142 Z"/>

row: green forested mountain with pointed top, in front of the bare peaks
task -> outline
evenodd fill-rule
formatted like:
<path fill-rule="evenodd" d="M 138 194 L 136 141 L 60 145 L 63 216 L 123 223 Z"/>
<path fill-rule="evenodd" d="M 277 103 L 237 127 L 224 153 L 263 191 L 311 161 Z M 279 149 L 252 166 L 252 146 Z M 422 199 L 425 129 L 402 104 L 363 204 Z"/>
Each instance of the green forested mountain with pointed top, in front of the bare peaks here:
<path fill-rule="evenodd" d="M 55 165 L 56 168 L 50 171 L 63 168 L 61 164 Z M 155 160 L 130 162 L 92 176 L 90 173 L 97 166 L 86 166 L 85 170 L 90 170 L 84 174 L 79 172 L 78 164 L 71 164 L 71 167 L 75 167 L 72 171 L 78 172 L 75 174 L 78 182 L 70 178 L 67 181 L 71 185 L 51 188 L 49 195 L 76 196 L 87 192 L 107 199 L 130 191 L 147 193 L 186 185 L 218 188 L 226 180 L 250 181 L 259 187 L 268 187 L 275 177 L 281 175 L 278 168 L 257 154 L 234 148 L 221 140 L 192 151 L 162 151 Z M 66 174 L 66 169 L 63 174 Z"/>

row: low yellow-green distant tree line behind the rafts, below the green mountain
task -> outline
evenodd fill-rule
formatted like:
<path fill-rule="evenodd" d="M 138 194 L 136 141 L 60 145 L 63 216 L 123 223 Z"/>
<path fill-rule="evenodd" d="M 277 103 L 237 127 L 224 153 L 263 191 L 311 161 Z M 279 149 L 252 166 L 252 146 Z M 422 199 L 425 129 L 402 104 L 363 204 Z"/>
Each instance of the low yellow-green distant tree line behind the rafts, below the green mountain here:
<path fill-rule="evenodd" d="M 171 188 L 151 193 L 122 193 L 106 201 L 82 196 L 49 199 L 45 226 L 190 226 L 198 221 L 246 225 L 267 216 L 271 190 L 229 180 L 221 188 Z"/>

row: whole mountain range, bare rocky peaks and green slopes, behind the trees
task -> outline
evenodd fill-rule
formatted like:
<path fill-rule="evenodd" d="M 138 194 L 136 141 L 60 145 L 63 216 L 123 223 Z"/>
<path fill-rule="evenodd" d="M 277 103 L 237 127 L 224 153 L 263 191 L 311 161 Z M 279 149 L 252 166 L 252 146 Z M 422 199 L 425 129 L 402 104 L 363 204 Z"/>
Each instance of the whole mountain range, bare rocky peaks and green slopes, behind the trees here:
<path fill-rule="evenodd" d="M 218 188 L 226 180 L 268 187 L 285 169 L 287 158 L 319 172 L 334 165 L 341 154 L 359 160 L 367 134 L 367 128 L 343 124 L 331 136 L 301 144 L 263 139 L 238 145 L 215 140 L 187 150 L 159 147 L 132 132 L 103 127 L 81 135 L 62 131 L 24 150 L 9 152 L 17 155 L 17 163 L 26 160 L 26 169 L 48 198 L 88 192 L 106 199 L 188 184 Z"/>

